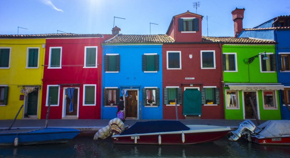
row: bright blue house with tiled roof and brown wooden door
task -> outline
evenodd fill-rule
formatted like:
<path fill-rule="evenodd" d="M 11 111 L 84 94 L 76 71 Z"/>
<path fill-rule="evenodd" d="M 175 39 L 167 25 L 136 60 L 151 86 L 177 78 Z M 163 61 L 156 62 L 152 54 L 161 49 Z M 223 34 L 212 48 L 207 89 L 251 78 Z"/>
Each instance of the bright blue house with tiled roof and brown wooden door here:
<path fill-rule="evenodd" d="M 120 96 L 127 119 L 162 119 L 162 43 L 172 41 L 160 34 L 117 34 L 103 43 L 101 119 L 116 117 Z"/>

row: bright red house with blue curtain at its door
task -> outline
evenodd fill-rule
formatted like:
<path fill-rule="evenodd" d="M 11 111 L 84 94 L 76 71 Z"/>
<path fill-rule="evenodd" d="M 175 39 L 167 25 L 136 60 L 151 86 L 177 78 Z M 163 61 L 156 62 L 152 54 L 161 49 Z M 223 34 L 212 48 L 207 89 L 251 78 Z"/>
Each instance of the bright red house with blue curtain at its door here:
<path fill-rule="evenodd" d="M 46 39 L 41 119 L 100 119 L 102 42 L 112 34 L 55 34 Z"/>

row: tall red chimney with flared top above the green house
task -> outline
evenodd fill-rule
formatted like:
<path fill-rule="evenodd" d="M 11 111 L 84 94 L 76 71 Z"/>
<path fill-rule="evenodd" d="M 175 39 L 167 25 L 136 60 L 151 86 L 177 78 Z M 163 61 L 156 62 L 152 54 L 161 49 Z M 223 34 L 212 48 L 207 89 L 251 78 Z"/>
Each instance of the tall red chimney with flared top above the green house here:
<path fill-rule="evenodd" d="M 243 8 L 243 9 L 235 8 L 235 10 L 232 11 L 235 37 L 237 37 L 238 34 L 241 33 L 241 31 L 242 31 L 244 11 L 245 11 L 245 8 Z"/>

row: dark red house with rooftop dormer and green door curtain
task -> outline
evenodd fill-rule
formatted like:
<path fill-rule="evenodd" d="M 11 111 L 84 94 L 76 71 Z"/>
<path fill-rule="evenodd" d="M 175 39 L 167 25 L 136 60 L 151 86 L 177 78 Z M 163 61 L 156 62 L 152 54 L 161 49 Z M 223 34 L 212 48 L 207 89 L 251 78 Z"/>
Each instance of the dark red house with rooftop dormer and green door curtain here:
<path fill-rule="evenodd" d="M 222 45 L 202 37 L 201 15 L 173 16 L 162 46 L 163 119 L 223 119 Z"/>

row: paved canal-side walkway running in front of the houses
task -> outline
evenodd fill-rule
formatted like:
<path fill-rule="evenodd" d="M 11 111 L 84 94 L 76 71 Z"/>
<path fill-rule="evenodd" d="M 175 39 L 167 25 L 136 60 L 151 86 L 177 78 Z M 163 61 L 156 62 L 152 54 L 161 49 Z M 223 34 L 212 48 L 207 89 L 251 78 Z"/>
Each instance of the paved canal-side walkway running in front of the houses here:
<path fill-rule="evenodd" d="M 17 119 L 13 128 L 36 128 L 44 127 L 45 119 Z M 99 129 L 108 125 L 110 119 L 49 119 L 48 127 L 59 127 L 59 128 L 74 128 L 81 130 L 82 133 L 94 133 Z M 139 119 L 126 119 L 125 126 L 132 126 Z M 141 120 L 143 121 L 154 121 L 154 120 Z M 225 120 L 225 119 L 180 119 L 185 125 L 213 125 L 213 126 L 226 126 L 230 127 L 232 130 L 238 128 L 239 123 L 244 120 Z M 256 120 L 251 120 L 258 126 Z M 13 120 L 0 120 L 0 130 L 8 129 Z M 260 123 L 264 123 L 265 120 L 260 120 Z"/>

